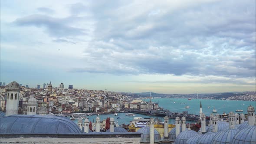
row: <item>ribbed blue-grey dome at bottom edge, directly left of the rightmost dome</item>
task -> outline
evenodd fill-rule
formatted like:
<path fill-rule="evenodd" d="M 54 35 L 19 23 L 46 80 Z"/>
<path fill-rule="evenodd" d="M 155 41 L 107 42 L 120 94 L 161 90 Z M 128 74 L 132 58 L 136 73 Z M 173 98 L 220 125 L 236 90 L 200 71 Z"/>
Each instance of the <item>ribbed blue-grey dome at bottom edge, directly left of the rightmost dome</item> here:
<path fill-rule="evenodd" d="M 213 137 L 211 144 L 231 144 L 238 131 L 238 129 L 220 131 Z"/>

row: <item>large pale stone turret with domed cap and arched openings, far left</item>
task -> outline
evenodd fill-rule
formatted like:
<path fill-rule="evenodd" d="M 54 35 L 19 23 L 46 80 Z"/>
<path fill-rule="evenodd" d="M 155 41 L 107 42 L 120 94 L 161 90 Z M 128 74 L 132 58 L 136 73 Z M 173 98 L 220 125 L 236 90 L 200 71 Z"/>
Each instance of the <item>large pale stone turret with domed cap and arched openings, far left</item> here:
<path fill-rule="evenodd" d="M 6 86 L 6 92 L 7 99 L 5 115 L 18 115 L 20 84 L 15 81 L 11 82 Z"/>

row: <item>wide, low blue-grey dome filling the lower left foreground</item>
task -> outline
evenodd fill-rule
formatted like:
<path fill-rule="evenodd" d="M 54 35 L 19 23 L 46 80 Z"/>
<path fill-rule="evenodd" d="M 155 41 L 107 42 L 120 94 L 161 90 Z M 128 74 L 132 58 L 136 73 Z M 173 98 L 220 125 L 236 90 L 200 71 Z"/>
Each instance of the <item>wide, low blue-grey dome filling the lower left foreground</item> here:
<path fill-rule="evenodd" d="M 82 134 L 69 118 L 52 115 L 10 115 L 1 117 L 1 134 Z"/>

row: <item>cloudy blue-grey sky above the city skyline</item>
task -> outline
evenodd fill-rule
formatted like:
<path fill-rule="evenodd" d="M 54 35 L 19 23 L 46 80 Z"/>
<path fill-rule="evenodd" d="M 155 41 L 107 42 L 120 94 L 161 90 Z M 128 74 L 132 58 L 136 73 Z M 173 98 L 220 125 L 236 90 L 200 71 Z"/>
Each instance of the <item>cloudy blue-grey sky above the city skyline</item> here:
<path fill-rule="evenodd" d="M 0 81 L 255 91 L 256 1 L 1 0 Z"/>

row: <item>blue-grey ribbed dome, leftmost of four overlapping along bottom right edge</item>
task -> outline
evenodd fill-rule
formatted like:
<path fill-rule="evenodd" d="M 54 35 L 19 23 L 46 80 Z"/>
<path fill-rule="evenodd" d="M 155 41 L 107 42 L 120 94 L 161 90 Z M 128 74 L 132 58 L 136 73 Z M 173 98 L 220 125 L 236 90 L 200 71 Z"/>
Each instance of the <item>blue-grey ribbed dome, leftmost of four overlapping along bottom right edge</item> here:
<path fill-rule="evenodd" d="M 198 135 L 197 132 L 195 131 L 182 131 L 175 139 L 175 144 L 185 144 L 186 141 L 190 138 L 193 137 L 194 135 Z"/>

